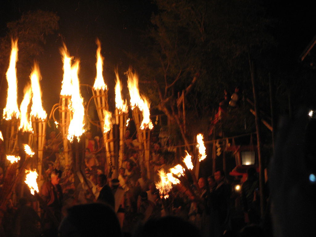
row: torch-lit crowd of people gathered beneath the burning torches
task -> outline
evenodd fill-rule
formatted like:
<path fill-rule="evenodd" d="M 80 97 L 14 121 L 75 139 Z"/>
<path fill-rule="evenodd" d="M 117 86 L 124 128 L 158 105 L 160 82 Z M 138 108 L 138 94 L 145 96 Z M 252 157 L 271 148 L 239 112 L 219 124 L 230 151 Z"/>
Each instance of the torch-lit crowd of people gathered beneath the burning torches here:
<path fill-rule="evenodd" d="M 73 216 L 76 211 L 80 211 L 75 208 L 76 205 L 101 203 L 114 211 L 119 228 L 125 234 L 134 232 L 140 223 L 170 215 L 190 222 L 192 228 L 200 231 L 201 236 L 221 236 L 225 231 L 230 230 L 232 228 L 231 185 L 228 184 L 222 170 L 217 171 L 213 176 L 200 177 L 197 186 L 191 182 L 194 195 L 187 195 L 175 185 L 169 198 L 160 197 L 155 185 L 160 181 L 158 171 L 161 168 L 168 171 L 176 164 L 174 153 L 166 149 L 166 146 L 162 146 L 161 142 L 163 141 L 159 137 L 151 139 L 148 172 L 143 157 L 140 156 L 137 139 L 132 139 L 127 131 L 125 153 L 116 179 L 112 176 L 111 167 L 106 163 L 102 138 L 98 136 L 93 138 L 90 131 L 85 134 L 84 139 L 85 152 L 81 167 L 83 172 L 74 172 L 72 169 L 62 172 L 64 166 L 62 141 L 54 131 L 51 132 L 50 139 L 46 143 L 46 158 L 43 162 L 45 170 L 43 179 L 46 181 L 40 188 L 41 213 L 35 211 L 38 210 L 35 206 L 36 199 L 30 194 L 25 194 L 28 189 L 24 189 L 24 194 L 20 195 L 19 205 L 11 208 L 12 228 L 7 228 L 7 231 L 11 231 L 13 236 L 40 234 L 57 236 L 58 227 L 65 216 L 68 216 L 67 220 L 77 218 Z M 254 181 L 255 172 L 251 175 L 250 180 Z M 246 211 L 248 208 L 257 211 L 253 193 L 258 188 L 258 182 L 248 183 L 245 182 L 245 188 L 241 192 L 242 203 Z M 93 205 L 85 206 L 88 207 L 96 208 Z M 29 209 L 33 211 L 25 211 Z M 21 221 L 22 219 L 28 219 L 27 225 Z M 65 225 L 67 228 L 71 226 L 68 221 L 62 223 L 59 227 L 62 231 L 65 230 Z"/>

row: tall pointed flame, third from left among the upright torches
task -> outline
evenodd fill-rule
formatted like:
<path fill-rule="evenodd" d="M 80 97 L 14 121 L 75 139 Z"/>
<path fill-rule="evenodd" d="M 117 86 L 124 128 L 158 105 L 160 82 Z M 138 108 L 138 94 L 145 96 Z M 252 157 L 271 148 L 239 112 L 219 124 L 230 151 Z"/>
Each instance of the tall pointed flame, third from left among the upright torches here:
<path fill-rule="evenodd" d="M 30 115 L 34 116 L 37 119 L 44 120 L 47 118 L 47 113 L 44 110 L 43 105 L 42 105 L 42 92 L 40 89 L 41 75 L 40 75 L 39 65 L 37 63 L 34 63 L 34 67 L 33 67 L 30 78 L 31 78 L 32 93 L 33 93 Z"/>

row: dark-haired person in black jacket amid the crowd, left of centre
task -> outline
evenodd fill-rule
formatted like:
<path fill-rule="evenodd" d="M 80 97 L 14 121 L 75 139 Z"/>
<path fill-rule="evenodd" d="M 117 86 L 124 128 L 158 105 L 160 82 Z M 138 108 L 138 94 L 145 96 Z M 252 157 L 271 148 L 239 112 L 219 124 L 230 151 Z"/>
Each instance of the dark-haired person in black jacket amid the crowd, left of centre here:
<path fill-rule="evenodd" d="M 97 202 L 103 202 L 115 208 L 115 199 L 112 189 L 107 185 L 107 178 L 105 174 L 98 175 L 98 187 L 100 187 L 100 193 L 97 198 Z"/>

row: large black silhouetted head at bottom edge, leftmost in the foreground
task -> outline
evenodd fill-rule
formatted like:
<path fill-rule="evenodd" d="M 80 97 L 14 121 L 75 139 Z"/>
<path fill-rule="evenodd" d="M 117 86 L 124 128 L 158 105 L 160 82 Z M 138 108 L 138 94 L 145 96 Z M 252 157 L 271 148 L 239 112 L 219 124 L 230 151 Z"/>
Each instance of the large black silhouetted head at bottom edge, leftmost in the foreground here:
<path fill-rule="evenodd" d="M 102 203 L 76 205 L 68 209 L 59 226 L 60 237 L 121 237 L 119 220 L 113 209 Z"/>

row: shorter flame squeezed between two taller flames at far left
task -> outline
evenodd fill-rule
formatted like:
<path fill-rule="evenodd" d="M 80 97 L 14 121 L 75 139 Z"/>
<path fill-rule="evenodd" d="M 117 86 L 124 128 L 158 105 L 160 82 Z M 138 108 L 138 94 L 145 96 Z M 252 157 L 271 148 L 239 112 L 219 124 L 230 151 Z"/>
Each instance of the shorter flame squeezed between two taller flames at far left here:
<path fill-rule="evenodd" d="M 21 129 L 22 132 L 33 132 L 33 128 L 30 122 L 30 118 L 28 116 L 28 105 L 31 102 L 31 97 L 32 97 L 32 89 L 30 85 L 27 85 L 24 88 L 24 97 L 20 105 L 20 110 L 21 110 L 21 121 L 20 121 L 20 126 L 19 130 Z"/>

